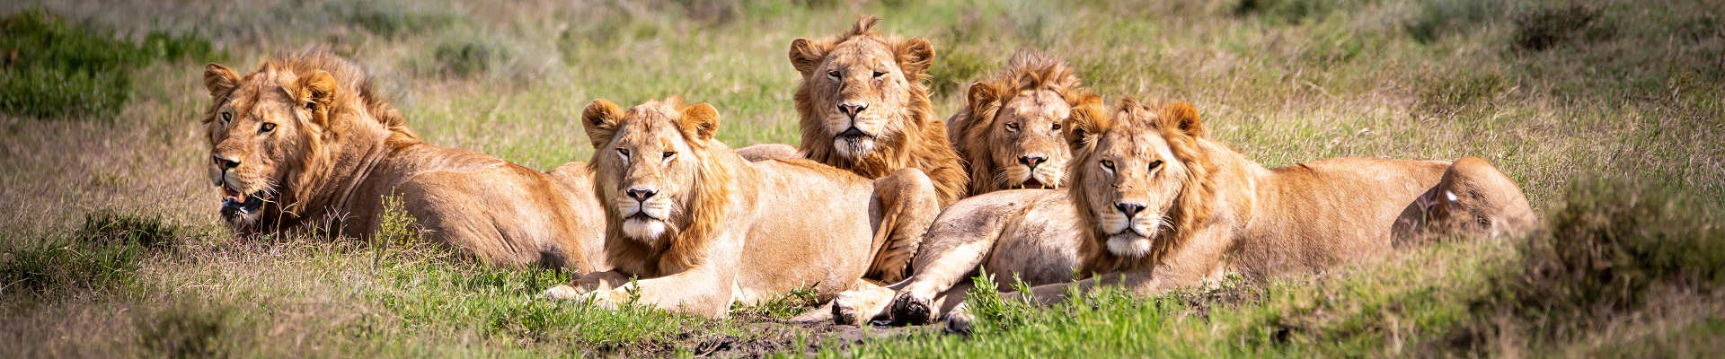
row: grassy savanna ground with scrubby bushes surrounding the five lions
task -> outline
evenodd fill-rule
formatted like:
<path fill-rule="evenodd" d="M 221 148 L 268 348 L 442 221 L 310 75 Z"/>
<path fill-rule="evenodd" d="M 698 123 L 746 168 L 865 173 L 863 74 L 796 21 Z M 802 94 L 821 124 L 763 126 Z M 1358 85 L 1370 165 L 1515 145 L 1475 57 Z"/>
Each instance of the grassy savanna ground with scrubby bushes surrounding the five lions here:
<path fill-rule="evenodd" d="M 1725 2 L 7 2 L 0 357 L 41 356 L 1720 356 Z M 205 183 L 202 66 L 324 45 L 431 143 L 549 169 L 592 98 L 718 105 L 795 143 L 790 40 L 859 14 L 937 47 L 937 110 L 1016 48 L 1109 102 L 1197 104 L 1266 166 L 1478 155 L 1546 224 L 1154 299 L 973 299 L 975 335 L 538 299 L 568 280 L 378 240 L 235 238 Z M 395 217 L 395 224 L 405 221 Z M 1009 278 L 994 278 L 1009 281 Z"/>

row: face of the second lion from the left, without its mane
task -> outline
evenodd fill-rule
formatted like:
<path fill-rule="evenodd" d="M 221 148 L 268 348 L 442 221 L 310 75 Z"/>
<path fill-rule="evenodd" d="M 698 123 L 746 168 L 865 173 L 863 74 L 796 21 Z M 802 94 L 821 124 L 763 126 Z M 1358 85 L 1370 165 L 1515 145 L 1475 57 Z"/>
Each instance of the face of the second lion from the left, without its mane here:
<path fill-rule="evenodd" d="M 712 140 L 718 112 L 707 104 L 676 109 L 649 102 L 628 112 L 593 100 L 583 124 L 593 143 L 597 190 L 621 221 L 623 235 L 657 243 L 688 221 L 702 178 L 697 147 Z"/>

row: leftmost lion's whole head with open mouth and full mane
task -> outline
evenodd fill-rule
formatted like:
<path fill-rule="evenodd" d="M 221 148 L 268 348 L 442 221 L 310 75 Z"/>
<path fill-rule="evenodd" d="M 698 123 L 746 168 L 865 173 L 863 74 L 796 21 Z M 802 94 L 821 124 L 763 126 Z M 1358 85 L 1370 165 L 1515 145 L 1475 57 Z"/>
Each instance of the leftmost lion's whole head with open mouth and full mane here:
<path fill-rule="evenodd" d="M 343 143 L 416 138 L 359 66 L 324 50 L 264 60 L 243 78 L 207 64 L 204 86 L 214 97 L 202 117 L 209 180 L 223 190 L 223 219 L 242 231 L 316 205 Z"/>

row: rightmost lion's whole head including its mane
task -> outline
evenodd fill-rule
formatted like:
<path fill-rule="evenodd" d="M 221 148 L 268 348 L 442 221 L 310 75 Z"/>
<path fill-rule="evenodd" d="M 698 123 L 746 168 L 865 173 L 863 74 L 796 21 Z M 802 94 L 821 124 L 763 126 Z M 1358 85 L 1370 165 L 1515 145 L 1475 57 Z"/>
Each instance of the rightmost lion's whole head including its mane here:
<path fill-rule="evenodd" d="M 1192 104 L 1123 98 L 1113 117 L 1073 116 L 1068 195 L 1092 273 L 1154 262 L 1211 216 L 1214 164 Z M 1145 261 L 1149 259 L 1149 261 Z"/>

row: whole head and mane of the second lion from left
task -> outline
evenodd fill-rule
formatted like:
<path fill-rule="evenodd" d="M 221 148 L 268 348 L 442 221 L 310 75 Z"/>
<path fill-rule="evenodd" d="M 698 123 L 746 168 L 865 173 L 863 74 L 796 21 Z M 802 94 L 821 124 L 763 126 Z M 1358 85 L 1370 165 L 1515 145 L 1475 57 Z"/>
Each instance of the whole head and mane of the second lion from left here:
<path fill-rule="evenodd" d="M 623 110 L 593 100 L 581 112 L 593 143 L 593 192 L 607 214 L 605 250 L 638 274 L 674 273 L 699 261 L 728 204 L 733 155 L 712 140 L 712 105 L 678 98 Z M 650 271 L 649 271 L 650 269 Z"/>

